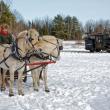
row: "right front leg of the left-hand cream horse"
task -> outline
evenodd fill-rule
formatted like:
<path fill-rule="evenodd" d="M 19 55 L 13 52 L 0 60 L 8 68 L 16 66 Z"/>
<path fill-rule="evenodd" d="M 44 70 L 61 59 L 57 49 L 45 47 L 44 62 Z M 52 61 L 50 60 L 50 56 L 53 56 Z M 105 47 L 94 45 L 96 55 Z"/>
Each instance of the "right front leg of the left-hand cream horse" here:
<path fill-rule="evenodd" d="M 23 96 L 24 92 L 23 92 L 23 79 L 22 78 L 23 78 L 23 71 L 20 70 L 18 71 L 18 94 Z"/>

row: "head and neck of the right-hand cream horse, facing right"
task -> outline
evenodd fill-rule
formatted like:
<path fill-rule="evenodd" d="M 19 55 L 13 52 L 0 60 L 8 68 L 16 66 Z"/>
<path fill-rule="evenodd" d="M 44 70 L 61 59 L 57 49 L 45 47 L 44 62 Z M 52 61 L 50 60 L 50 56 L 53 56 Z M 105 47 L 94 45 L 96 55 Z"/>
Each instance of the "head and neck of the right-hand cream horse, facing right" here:
<path fill-rule="evenodd" d="M 45 35 L 40 38 L 36 46 L 40 49 L 42 54 L 45 56 L 49 55 L 54 58 L 54 60 L 57 60 L 59 59 L 60 51 L 63 49 L 63 40 L 54 36 Z"/>

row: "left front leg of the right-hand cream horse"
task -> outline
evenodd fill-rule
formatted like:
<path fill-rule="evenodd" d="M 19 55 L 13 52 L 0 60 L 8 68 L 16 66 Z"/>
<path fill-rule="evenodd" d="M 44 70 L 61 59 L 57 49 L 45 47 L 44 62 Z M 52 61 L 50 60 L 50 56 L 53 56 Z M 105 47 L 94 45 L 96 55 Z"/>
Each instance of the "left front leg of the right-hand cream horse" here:
<path fill-rule="evenodd" d="M 37 80 L 38 80 L 38 75 L 37 75 L 37 69 L 31 71 L 32 74 L 32 79 L 33 79 L 33 88 L 35 91 L 38 91 L 38 84 L 37 84 Z"/>

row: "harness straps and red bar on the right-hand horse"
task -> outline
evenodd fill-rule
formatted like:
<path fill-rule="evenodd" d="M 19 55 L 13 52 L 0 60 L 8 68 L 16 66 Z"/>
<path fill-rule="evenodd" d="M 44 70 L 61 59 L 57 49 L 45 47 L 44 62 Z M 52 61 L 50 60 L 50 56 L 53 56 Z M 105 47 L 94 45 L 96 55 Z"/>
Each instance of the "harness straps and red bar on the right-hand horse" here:
<path fill-rule="evenodd" d="M 55 47 L 52 51 L 54 51 L 55 49 L 57 49 L 57 51 L 58 51 L 58 56 L 59 56 L 60 50 L 62 50 L 62 47 L 59 46 L 58 39 L 56 39 L 58 46 L 57 46 L 56 44 L 52 43 L 52 42 L 49 42 L 49 41 L 45 40 L 45 39 L 43 39 L 43 40 L 44 40 L 45 42 L 48 42 L 48 43 L 50 43 L 50 44 L 55 45 L 56 47 Z M 34 54 L 34 53 L 35 53 L 35 54 Z M 48 53 L 45 53 L 45 52 L 43 52 L 42 50 L 34 51 L 34 53 L 30 56 L 30 58 L 31 58 L 32 56 L 35 56 L 36 58 L 39 58 L 39 59 L 42 59 L 42 60 L 49 60 L 49 61 L 45 61 L 45 62 L 35 62 L 35 63 L 27 63 L 26 65 L 28 65 L 28 66 L 33 66 L 33 65 L 37 65 L 37 66 L 34 67 L 34 68 L 32 68 L 32 69 L 30 69 L 30 70 L 25 70 L 25 73 L 27 73 L 27 72 L 29 72 L 29 71 L 33 71 L 33 70 L 35 70 L 35 69 L 37 69 L 37 68 L 40 68 L 40 67 L 42 67 L 41 72 L 40 72 L 40 73 L 42 73 L 43 69 L 45 69 L 45 67 L 46 67 L 48 64 L 56 63 L 56 61 L 52 60 L 52 57 L 58 58 L 58 56 L 55 57 L 55 56 L 49 55 Z M 47 56 L 45 57 L 45 55 L 47 55 Z"/>

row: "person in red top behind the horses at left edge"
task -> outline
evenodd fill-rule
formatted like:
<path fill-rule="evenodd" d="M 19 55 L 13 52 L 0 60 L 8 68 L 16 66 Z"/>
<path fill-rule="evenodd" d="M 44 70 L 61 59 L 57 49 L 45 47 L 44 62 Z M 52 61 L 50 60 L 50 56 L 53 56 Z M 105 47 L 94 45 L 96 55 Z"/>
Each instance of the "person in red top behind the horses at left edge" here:
<path fill-rule="evenodd" d="M 2 24 L 0 26 L 0 43 L 1 44 L 11 44 L 12 35 L 9 33 L 9 26 L 7 24 Z"/>

